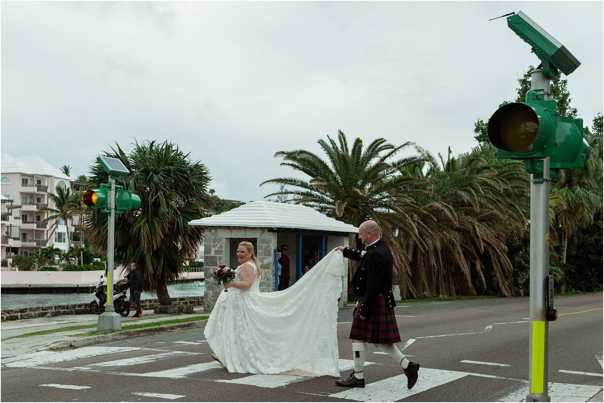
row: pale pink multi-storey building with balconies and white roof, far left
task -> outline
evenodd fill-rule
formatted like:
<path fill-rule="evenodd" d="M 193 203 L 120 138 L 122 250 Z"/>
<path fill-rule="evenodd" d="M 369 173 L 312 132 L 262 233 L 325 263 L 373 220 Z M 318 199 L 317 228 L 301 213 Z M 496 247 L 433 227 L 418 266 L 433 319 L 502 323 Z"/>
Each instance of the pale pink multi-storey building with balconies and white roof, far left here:
<path fill-rule="evenodd" d="M 50 163 L 37 156 L 13 159 L 2 154 L 2 270 L 11 270 L 10 256 L 40 252 L 43 247 L 54 245 L 67 250 L 67 236 L 72 240 L 78 217 L 62 222 L 56 229 L 54 222 L 42 223 L 48 217 L 40 209 L 50 206 L 48 192 L 56 192 L 57 186 L 84 190 L 83 183 L 69 179 Z M 74 222 L 75 221 L 75 222 Z M 73 244 L 73 243 L 72 243 Z M 79 243 L 76 243 L 79 246 Z"/>

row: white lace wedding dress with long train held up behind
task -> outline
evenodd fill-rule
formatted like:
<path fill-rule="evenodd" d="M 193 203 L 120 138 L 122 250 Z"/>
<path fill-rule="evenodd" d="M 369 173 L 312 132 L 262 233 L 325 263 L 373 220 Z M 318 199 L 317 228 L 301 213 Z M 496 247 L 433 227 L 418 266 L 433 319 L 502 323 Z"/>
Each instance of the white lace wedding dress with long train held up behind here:
<path fill-rule="evenodd" d="M 260 278 L 245 291 L 229 288 L 205 326 L 208 344 L 229 372 L 339 376 L 338 298 L 345 275 L 342 252 L 332 251 L 286 290 L 260 293 Z"/>

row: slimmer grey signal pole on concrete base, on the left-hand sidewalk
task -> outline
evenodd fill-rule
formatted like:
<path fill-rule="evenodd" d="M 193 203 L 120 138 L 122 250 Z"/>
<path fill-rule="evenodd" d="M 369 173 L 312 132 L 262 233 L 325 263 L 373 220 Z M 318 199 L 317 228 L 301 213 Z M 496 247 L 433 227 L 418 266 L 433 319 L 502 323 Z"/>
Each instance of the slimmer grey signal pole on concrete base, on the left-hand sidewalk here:
<path fill-rule="evenodd" d="M 109 176 L 111 190 L 109 191 L 109 209 L 111 212 L 107 217 L 107 306 L 105 311 L 98 317 L 97 330 L 117 329 L 121 330 L 120 314 L 115 312 L 113 305 L 114 286 L 114 249 L 115 249 L 115 178 Z"/>

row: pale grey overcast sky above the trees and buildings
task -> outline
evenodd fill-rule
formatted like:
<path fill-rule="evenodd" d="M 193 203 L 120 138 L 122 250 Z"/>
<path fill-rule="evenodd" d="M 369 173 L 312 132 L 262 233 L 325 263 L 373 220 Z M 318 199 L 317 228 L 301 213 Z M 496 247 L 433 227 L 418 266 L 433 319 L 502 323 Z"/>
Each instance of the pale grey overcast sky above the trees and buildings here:
<path fill-rule="evenodd" d="M 2 153 L 78 175 L 115 141 L 167 139 L 243 201 L 293 174 L 275 151 L 318 152 L 338 129 L 463 153 L 539 64 L 506 19 L 487 21 L 518 10 L 582 63 L 568 88 L 591 125 L 600 1 L 2 2 Z"/>

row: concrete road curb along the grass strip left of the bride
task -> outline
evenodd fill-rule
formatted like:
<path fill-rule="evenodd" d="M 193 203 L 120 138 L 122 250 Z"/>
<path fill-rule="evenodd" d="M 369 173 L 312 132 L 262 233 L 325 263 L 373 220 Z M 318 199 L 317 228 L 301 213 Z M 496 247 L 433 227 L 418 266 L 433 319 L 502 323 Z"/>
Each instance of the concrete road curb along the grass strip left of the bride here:
<path fill-rule="evenodd" d="M 158 333 L 167 333 L 175 330 L 203 328 L 206 323 L 208 323 L 207 319 L 194 320 L 192 322 L 170 323 L 170 325 L 150 326 L 149 328 L 143 329 L 124 330 L 109 334 L 100 334 L 97 336 L 72 338 L 71 340 L 59 341 L 58 343 L 49 344 L 48 346 L 42 347 L 38 350 L 60 349 L 70 346 L 83 347 L 89 346 L 91 344 L 108 343 L 109 341 L 124 340 L 126 338 L 143 337 Z"/>

